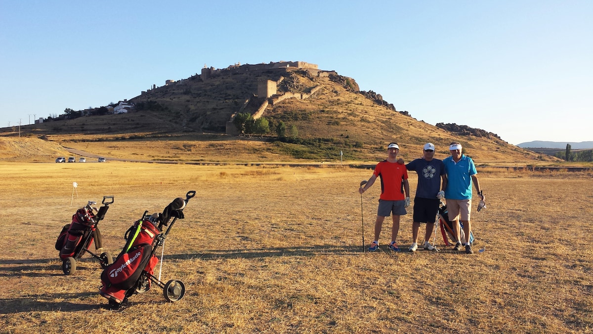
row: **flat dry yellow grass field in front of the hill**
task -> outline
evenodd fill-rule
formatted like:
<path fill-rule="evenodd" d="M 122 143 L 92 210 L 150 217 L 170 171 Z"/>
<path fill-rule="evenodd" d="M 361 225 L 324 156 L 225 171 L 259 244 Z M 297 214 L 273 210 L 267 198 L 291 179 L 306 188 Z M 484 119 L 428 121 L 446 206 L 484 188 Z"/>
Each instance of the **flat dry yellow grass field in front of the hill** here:
<path fill-rule="evenodd" d="M 390 253 L 390 223 L 381 251 L 363 253 L 361 218 L 368 244 L 380 192 L 364 194 L 361 213 L 370 169 L 0 162 L 0 172 L 3 333 L 593 331 L 591 174 L 479 169 L 488 206 L 473 212 L 474 248 L 485 251 L 466 255 L 440 237 L 439 253 Z M 109 310 L 98 261 L 63 275 L 56 237 L 87 200 L 114 196 L 99 227 L 117 254 L 144 210 L 189 190 L 162 264 L 165 282 L 185 283 L 182 300 L 153 286 Z M 411 226 L 410 210 L 401 247 Z"/>

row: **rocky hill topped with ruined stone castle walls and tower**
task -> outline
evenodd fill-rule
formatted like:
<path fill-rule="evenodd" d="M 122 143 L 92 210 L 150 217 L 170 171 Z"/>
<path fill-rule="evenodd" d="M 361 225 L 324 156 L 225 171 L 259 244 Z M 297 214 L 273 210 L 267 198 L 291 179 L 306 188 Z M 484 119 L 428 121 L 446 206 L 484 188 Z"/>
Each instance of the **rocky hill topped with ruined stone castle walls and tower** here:
<path fill-rule="evenodd" d="M 233 117 L 248 113 L 269 121 L 272 131 L 258 139 L 266 142 L 266 150 L 281 151 L 294 159 L 340 160 L 342 152 L 344 159 L 377 160 L 390 141 L 400 144 L 400 154 L 407 159 L 420 155 L 427 141 L 436 144 L 441 156 L 448 155 L 451 141 L 460 141 L 464 152 L 477 162 L 555 159 L 510 145 L 485 130 L 417 121 L 408 112 L 397 111 L 381 94 L 361 92 L 353 78 L 335 71 L 307 63 L 301 67 L 278 64 L 284 63 L 205 68 L 200 74 L 168 81 L 130 98 L 127 102 L 135 108 L 126 114 L 82 116 L 21 128 L 25 134 L 50 140 L 68 135 L 60 138 L 71 142 L 97 140 L 97 136 L 109 140 L 179 133 L 233 136 L 237 131 Z M 280 122 L 297 131 L 292 140 L 275 136 L 273 129 Z M 4 136 L 9 135 L 9 129 L 4 130 Z"/>

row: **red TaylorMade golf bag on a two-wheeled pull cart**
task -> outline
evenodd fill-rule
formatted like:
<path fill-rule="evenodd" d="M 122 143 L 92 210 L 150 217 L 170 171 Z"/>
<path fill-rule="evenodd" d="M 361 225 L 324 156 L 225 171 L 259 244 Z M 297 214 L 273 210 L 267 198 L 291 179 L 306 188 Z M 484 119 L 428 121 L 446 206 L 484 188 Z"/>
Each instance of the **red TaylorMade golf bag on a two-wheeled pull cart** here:
<path fill-rule="evenodd" d="M 163 283 L 160 275 L 158 278 L 153 275 L 158 263 L 155 253 L 164 244 L 176 220 L 184 218 L 183 209 L 195 195 L 195 191 L 188 191 L 185 199 L 175 198 L 162 213 L 148 215 L 148 210 L 145 211 L 142 218 L 127 230 L 126 245 L 122 252 L 101 273 L 102 286 L 99 293 L 109 300 L 111 308 L 119 308 L 133 294 L 148 291 L 152 283 L 162 288 L 167 301 L 175 302 L 183 298 L 183 282 L 171 279 Z M 162 232 L 164 226 L 168 227 Z"/>

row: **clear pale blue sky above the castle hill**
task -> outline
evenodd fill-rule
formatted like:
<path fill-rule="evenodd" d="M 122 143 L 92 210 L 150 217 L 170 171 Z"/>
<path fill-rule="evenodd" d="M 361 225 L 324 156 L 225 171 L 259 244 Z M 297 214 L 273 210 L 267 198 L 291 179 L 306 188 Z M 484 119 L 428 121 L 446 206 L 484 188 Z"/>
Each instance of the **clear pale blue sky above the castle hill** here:
<path fill-rule="evenodd" d="M 335 70 L 429 124 L 593 140 L 590 0 L 0 0 L 0 127 L 270 61 Z"/>

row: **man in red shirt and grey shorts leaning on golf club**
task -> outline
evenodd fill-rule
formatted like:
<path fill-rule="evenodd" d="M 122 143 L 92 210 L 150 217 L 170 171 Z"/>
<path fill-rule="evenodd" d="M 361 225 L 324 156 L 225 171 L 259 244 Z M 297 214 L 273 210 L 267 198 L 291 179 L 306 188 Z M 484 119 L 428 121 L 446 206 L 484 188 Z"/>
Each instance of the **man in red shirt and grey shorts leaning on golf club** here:
<path fill-rule="evenodd" d="M 359 193 L 364 193 L 374 183 L 375 179 L 381 179 L 381 196 L 379 197 L 379 207 L 377 209 L 377 221 L 375 222 L 375 240 L 372 242 L 369 251 L 379 249 L 379 235 L 383 226 L 385 217 L 392 215 L 393 226 L 391 228 L 391 242 L 389 249 L 399 251 L 396 244 L 397 233 L 400 230 L 400 216 L 406 215 L 406 207 L 410 206 L 410 185 L 407 181 L 406 166 L 397 163 L 397 153 L 400 147 L 397 143 L 390 143 L 387 146 L 387 159 L 381 161 L 375 166 L 375 171 L 364 187 L 358 189 Z M 404 191 L 406 196 L 404 196 Z"/>

